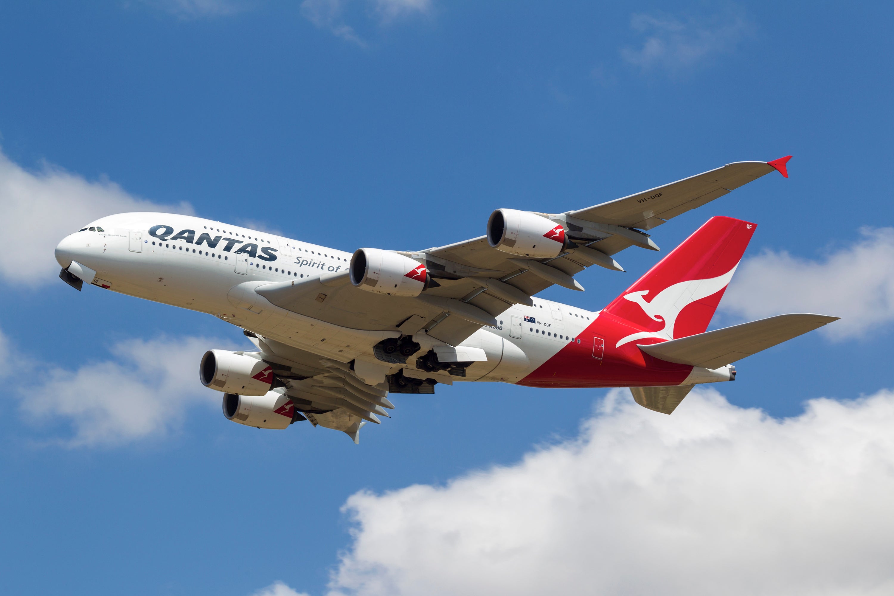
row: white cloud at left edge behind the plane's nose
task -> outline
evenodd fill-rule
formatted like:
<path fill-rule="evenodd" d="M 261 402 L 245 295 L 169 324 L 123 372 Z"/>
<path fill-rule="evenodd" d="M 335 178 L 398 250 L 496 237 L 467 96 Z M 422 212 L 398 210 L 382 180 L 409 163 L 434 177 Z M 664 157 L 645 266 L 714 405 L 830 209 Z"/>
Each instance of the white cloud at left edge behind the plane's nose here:
<path fill-rule="evenodd" d="M 0 221 L 7 239 L 0 277 L 32 287 L 58 281 L 53 251 L 59 240 L 103 215 L 128 211 L 192 213 L 185 203 L 158 205 L 109 180 L 91 182 L 53 165 L 29 172 L 0 151 Z"/>

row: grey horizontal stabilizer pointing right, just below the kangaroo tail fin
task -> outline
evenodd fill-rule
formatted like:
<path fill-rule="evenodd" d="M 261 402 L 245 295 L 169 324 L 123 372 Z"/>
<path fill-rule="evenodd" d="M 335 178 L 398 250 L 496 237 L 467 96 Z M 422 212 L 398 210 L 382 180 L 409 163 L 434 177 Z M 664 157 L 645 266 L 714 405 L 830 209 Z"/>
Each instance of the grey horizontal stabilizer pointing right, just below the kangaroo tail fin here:
<path fill-rule="evenodd" d="M 805 313 L 771 316 L 768 319 L 690 335 L 679 340 L 638 347 L 646 354 L 667 362 L 713 369 L 729 365 L 730 362 L 772 348 L 783 341 L 838 320 L 837 316 Z"/>

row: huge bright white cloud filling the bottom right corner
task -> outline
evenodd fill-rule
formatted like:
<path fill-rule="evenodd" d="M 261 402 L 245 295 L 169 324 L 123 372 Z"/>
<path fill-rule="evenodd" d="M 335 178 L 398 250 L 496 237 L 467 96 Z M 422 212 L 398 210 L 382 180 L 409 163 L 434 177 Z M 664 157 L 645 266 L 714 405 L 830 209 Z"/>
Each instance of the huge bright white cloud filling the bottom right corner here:
<path fill-rule="evenodd" d="M 613 390 L 578 439 L 345 506 L 332 594 L 894 593 L 894 393 L 784 420 Z"/>

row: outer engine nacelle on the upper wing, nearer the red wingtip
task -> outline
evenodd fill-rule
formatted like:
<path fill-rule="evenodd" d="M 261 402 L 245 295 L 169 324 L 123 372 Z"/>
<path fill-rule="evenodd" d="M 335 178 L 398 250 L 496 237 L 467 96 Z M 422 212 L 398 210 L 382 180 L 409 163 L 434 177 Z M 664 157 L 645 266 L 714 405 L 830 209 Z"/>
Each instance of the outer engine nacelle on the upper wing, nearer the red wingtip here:
<path fill-rule="evenodd" d="M 497 209 L 487 220 L 487 243 L 510 255 L 552 258 L 565 248 L 565 229 L 543 215 Z"/>

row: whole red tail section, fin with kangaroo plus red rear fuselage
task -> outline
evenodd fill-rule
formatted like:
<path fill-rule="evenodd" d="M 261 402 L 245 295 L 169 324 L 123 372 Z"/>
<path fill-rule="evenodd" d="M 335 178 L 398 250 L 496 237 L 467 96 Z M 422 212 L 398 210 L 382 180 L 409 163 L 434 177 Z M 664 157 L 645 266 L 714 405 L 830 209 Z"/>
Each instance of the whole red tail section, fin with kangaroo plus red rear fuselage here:
<path fill-rule="evenodd" d="M 645 387 L 683 382 L 692 366 L 650 357 L 637 344 L 704 332 L 755 228 L 730 217 L 711 218 L 519 384 Z"/>

